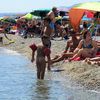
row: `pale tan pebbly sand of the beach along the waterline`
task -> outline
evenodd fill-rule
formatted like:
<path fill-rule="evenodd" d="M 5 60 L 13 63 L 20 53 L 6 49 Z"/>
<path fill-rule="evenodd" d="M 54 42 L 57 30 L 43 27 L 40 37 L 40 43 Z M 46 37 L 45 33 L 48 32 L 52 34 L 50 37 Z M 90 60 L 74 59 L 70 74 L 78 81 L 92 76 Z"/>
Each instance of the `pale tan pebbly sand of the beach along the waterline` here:
<path fill-rule="evenodd" d="M 21 53 L 22 55 L 31 59 L 31 49 L 29 45 L 35 42 L 36 44 L 40 43 L 40 38 L 35 36 L 34 38 L 24 39 L 18 35 L 8 35 L 9 38 L 13 39 L 15 43 L 9 44 L 8 40 L 4 38 L 4 45 L 1 45 L 4 48 L 11 49 Z M 54 57 L 55 54 L 60 54 L 66 45 L 65 40 L 60 40 L 55 38 L 52 40 L 51 47 L 51 57 Z M 69 75 L 72 80 L 78 84 L 88 88 L 88 89 L 99 89 L 100 90 L 100 67 L 97 65 L 88 65 L 82 61 L 74 62 L 58 62 L 54 66 L 62 66 L 64 69 L 63 75 Z"/>

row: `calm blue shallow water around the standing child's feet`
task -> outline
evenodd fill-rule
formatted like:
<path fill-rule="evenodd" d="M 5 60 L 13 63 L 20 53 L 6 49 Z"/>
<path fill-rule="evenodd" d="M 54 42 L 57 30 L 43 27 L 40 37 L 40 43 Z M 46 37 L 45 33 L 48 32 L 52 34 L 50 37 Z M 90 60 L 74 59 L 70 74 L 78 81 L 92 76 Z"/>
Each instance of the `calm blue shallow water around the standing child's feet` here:
<path fill-rule="evenodd" d="M 46 72 L 45 80 L 37 80 L 27 58 L 0 48 L 0 100 L 100 100 L 99 92 L 72 85 L 63 71 Z"/>

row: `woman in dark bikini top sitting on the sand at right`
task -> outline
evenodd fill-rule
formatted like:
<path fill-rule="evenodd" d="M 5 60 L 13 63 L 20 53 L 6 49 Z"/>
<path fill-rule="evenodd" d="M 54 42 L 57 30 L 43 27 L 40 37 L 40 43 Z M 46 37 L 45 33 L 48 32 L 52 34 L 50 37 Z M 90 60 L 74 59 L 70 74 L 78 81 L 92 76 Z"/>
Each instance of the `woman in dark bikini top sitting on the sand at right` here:
<path fill-rule="evenodd" d="M 90 32 L 88 30 L 84 31 L 83 39 L 79 42 L 77 47 L 78 52 L 73 55 L 69 60 L 73 60 L 77 57 L 85 58 L 93 58 L 97 53 L 97 42 L 92 40 Z"/>

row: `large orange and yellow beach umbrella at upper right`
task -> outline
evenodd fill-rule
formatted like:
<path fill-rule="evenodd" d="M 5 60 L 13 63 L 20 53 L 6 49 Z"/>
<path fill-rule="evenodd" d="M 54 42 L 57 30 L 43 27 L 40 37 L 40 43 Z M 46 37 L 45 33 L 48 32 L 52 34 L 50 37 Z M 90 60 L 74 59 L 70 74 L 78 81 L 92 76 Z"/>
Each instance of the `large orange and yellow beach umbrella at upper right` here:
<path fill-rule="evenodd" d="M 79 24 L 86 11 L 100 12 L 100 2 L 80 3 L 71 8 L 69 18 L 74 30 L 78 31 Z"/>

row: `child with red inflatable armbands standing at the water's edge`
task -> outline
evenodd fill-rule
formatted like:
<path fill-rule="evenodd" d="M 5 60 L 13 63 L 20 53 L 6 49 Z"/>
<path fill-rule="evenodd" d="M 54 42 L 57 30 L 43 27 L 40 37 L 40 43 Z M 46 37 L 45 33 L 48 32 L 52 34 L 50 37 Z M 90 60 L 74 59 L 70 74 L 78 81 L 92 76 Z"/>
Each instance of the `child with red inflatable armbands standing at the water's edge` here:
<path fill-rule="evenodd" d="M 37 50 L 37 56 L 36 56 L 36 66 L 37 66 L 37 78 L 38 79 L 44 79 L 45 75 L 45 69 L 46 69 L 46 62 L 48 63 L 48 70 L 50 70 L 50 48 L 48 48 L 48 38 L 43 36 L 42 38 L 42 44 L 36 46 L 35 44 L 32 44 L 30 48 L 32 49 L 32 59 L 31 61 L 34 61 L 34 55 L 35 51 Z M 46 61 L 47 57 L 47 61 Z"/>

